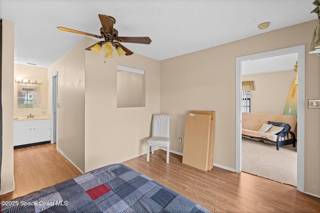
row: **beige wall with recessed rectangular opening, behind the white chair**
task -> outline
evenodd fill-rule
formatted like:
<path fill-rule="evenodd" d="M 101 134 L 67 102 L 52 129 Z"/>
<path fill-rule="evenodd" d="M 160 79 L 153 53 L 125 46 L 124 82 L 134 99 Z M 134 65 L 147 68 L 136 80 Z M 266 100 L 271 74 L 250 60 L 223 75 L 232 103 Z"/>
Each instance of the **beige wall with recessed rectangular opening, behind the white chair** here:
<path fill-rule="evenodd" d="M 86 38 L 85 46 L 94 42 Z M 152 114 L 159 113 L 159 61 L 138 54 L 118 57 L 116 51 L 105 60 L 103 51 L 85 51 L 86 172 L 145 154 Z M 145 70 L 145 107 L 116 107 L 117 64 Z"/>

